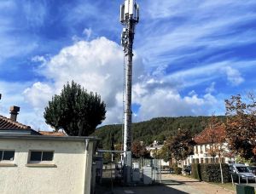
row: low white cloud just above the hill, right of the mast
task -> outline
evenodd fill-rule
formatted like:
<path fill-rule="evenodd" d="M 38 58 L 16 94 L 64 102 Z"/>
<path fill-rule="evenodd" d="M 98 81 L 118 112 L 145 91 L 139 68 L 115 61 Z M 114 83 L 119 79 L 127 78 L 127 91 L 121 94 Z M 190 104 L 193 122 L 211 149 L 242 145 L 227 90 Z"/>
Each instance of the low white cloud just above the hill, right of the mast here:
<path fill-rule="evenodd" d="M 197 94 L 182 97 L 174 89 L 155 89 L 154 92 L 137 96 L 140 104 L 137 119 L 146 120 L 151 117 L 178 117 L 209 115 L 217 100 L 211 94 L 198 97 Z"/>

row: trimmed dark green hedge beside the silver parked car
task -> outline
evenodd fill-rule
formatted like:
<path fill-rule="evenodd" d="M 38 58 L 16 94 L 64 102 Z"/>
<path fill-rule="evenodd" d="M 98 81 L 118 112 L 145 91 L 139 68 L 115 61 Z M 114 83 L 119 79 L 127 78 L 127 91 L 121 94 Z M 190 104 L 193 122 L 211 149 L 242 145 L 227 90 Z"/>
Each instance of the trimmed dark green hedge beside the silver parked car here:
<path fill-rule="evenodd" d="M 219 163 L 201 163 L 201 180 L 206 182 L 221 182 Z M 224 182 L 230 182 L 229 165 L 222 164 Z"/>

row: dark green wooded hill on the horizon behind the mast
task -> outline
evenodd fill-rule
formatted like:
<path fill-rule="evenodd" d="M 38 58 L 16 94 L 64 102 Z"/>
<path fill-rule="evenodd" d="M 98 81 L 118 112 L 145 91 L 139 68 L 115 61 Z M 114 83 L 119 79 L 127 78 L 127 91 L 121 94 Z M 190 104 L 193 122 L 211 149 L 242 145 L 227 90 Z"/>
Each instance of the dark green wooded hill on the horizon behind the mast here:
<path fill-rule="evenodd" d="M 169 136 L 177 133 L 177 129 L 188 129 L 191 134 L 199 134 L 208 123 L 210 117 L 157 117 L 149 121 L 132 123 L 133 140 L 144 141 L 145 145 L 151 144 L 154 140 L 163 142 Z M 224 121 L 225 117 L 218 117 Z M 104 149 L 110 149 L 113 135 L 114 144 L 122 142 L 123 125 L 106 125 L 96 128 L 91 136 L 102 138 L 101 145 Z"/>

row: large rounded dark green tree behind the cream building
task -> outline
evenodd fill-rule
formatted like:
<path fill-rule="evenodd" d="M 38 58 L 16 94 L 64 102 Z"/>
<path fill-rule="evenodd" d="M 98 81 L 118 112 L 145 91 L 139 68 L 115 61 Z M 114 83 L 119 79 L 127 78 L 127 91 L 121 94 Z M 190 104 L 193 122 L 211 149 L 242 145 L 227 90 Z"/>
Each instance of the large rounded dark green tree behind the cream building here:
<path fill-rule="evenodd" d="M 81 88 L 78 83 L 67 83 L 60 95 L 52 97 L 44 109 L 45 122 L 69 135 L 87 136 L 105 119 L 105 103 L 101 96 Z"/>

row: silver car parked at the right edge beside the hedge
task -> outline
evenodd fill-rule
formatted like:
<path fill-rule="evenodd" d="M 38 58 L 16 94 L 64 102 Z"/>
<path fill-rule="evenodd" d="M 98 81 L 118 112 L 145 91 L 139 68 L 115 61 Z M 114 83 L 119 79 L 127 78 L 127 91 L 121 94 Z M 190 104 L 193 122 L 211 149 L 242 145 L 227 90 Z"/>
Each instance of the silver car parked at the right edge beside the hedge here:
<path fill-rule="evenodd" d="M 233 175 L 235 181 L 239 180 L 239 177 L 241 181 L 255 181 L 256 179 L 256 176 L 250 172 L 249 168 L 241 163 L 230 164 L 230 174 Z"/>

